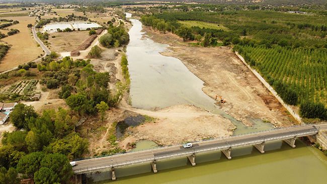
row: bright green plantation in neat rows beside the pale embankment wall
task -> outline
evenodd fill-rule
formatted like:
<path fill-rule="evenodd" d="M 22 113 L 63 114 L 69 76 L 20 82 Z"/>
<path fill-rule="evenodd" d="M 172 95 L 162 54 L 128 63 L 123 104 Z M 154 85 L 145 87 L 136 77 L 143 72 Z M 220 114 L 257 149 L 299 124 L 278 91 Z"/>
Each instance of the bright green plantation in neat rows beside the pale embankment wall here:
<path fill-rule="evenodd" d="M 327 105 L 327 52 L 325 49 L 288 49 L 276 46 L 244 46 L 242 55 L 272 85 L 283 81 L 298 94 L 298 103 L 306 100 Z M 239 50 L 239 49 L 238 49 Z M 248 56 L 245 56 L 248 55 Z M 251 59 L 253 63 L 251 63 Z"/>

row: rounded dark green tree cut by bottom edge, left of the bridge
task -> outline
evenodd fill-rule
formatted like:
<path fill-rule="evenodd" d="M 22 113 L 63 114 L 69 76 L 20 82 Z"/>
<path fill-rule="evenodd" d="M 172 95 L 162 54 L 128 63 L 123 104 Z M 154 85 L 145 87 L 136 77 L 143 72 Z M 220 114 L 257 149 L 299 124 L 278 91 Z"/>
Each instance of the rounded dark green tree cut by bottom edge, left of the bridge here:
<path fill-rule="evenodd" d="M 35 184 L 60 182 L 58 175 L 48 167 L 42 167 L 34 173 Z"/>

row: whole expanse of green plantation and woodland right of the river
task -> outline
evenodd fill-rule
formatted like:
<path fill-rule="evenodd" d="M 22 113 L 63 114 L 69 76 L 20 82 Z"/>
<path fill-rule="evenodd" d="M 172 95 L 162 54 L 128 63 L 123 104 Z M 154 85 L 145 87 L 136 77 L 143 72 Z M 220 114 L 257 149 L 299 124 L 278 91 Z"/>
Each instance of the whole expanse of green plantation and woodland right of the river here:
<path fill-rule="evenodd" d="M 142 16 L 141 20 L 161 32 L 171 31 L 184 41 L 197 40 L 194 46 L 218 46 L 218 40 L 224 46 L 233 44 L 233 49 L 259 71 L 287 104 L 310 101 L 315 104 L 307 107 L 311 112 L 320 107 L 319 103 L 327 104 L 327 21 L 324 16 L 265 11 L 260 6 L 248 7 L 252 11 L 230 11 L 222 6 L 221 11 L 211 9 L 215 11 L 212 13 L 202 8 L 193 8 L 191 12 L 168 10 Z M 213 28 L 213 25 L 227 29 Z M 306 116 L 304 112 L 301 114 Z M 314 114 L 316 116 L 310 118 L 318 117 Z M 320 119 L 323 116 L 319 116 Z"/>

